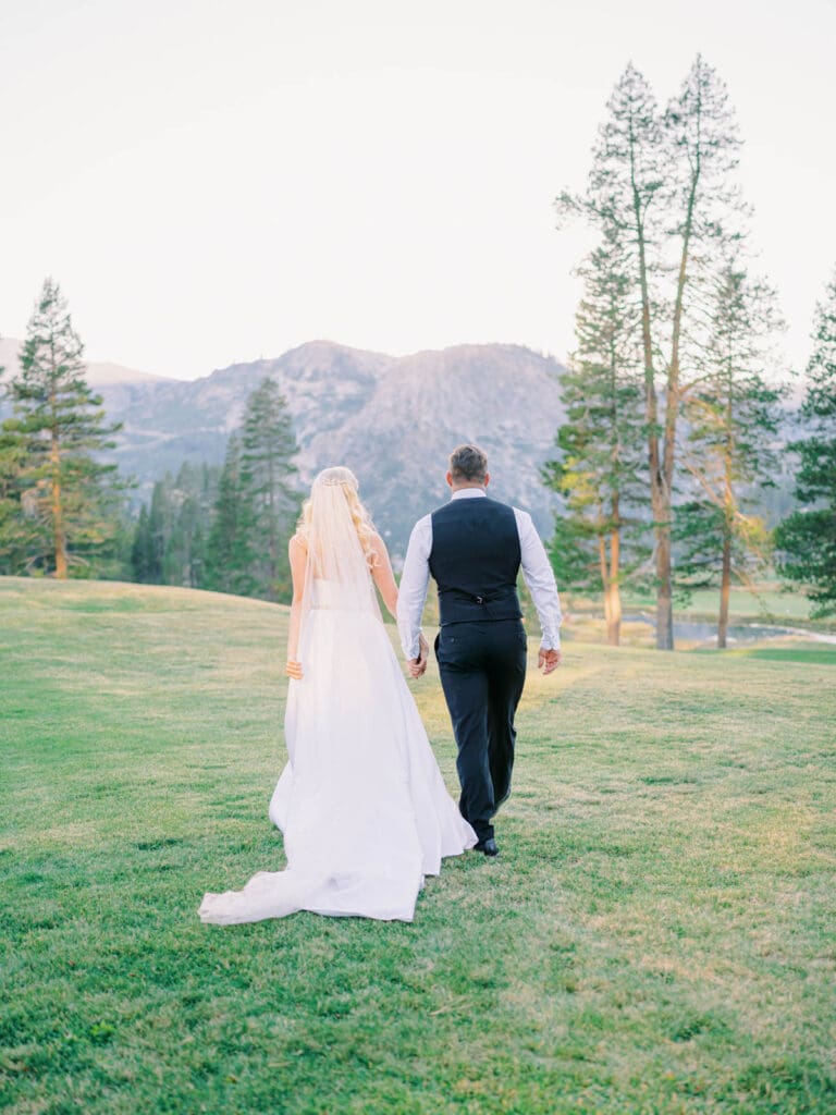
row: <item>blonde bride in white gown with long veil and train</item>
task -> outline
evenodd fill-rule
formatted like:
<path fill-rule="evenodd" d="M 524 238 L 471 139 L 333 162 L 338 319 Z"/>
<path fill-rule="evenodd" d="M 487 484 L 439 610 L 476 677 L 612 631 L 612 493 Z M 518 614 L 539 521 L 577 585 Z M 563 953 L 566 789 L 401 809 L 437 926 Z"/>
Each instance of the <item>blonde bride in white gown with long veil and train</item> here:
<path fill-rule="evenodd" d="M 289 762 L 269 811 L 288 866 L 204 895 L 201 919 L 312 910 L 411 921 L 424 876 L 476 834 L 447 793 L 383 628 L 375 585 L 392 615 L 398 588 L 350 469 L 313 482 L 290 561 Z"/>

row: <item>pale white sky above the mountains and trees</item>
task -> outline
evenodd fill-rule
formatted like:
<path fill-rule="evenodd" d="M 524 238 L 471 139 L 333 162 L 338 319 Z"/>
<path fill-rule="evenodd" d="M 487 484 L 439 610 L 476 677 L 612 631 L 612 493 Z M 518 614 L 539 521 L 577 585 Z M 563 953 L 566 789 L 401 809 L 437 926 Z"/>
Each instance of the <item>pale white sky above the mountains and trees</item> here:
<path fill-rule="evenodd" d="M 565 357 L 554 231 L 629 59 L 702 51 L 806 361 L 836 264 L 836 0 L 1 0 L 0 333 L 46 274 L 91 360 L 194 378 L 328 338 Z"/>

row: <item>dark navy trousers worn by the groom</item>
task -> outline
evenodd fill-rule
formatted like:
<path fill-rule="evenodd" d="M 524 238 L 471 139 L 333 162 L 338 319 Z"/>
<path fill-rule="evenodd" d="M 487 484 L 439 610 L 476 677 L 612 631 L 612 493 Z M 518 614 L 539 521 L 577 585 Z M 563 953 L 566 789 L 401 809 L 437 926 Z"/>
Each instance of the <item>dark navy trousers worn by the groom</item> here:
<path fill-rule="evenodd" d="M 511 793 L 525 631 L 519 620 L 449 623 L 438 633 L 436 657 L 458 747 L 459 809 L 488 840 L 490 818 Z"/>

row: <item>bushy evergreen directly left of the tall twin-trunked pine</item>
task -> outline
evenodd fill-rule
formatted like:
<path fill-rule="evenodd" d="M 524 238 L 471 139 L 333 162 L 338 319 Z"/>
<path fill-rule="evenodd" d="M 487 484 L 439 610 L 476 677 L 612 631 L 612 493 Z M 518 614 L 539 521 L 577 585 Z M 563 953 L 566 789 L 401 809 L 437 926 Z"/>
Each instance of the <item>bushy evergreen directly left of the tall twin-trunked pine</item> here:
<path fill-rule="evenodd" d="M 566 515 L 550 545 L 561 583 L 603 592 L 607 640 L 619 644 L 621 584 L 641 556 L 640 477 L 643 425 L 641 307 L 621 230 L 581 269 L 585 294 L 576 318 L 577 352 L 562 376 L 566 420 L 557 434 L 561 456 L 543 478 L 560 492 Z"/>

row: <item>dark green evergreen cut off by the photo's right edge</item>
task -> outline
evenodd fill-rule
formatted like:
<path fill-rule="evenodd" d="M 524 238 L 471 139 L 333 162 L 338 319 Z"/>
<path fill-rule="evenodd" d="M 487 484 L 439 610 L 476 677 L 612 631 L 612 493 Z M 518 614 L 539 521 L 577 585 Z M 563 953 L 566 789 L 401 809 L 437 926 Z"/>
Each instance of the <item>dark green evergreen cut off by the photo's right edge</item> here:
<path fill-rule="evenodd" d="M 836 272 L 816 307 L 807 379 L 801 417 L 809 436 L 791 446 L 803 506 L 779 525 L 777 542 L 780 572 L 808 586 L 820 617 L 836 613 Z"/>

